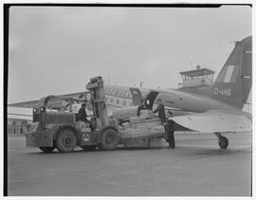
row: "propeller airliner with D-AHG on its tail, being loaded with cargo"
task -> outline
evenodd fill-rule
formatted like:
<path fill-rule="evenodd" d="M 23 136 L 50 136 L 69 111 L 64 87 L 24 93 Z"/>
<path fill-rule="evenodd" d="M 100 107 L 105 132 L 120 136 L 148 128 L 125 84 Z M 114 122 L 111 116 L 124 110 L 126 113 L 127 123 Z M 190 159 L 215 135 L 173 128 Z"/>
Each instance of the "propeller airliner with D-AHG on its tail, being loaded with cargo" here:
<path fill-rule="evenodd" d="M 179 128 L 195 133 L 214 134 L 219 146 L 229 146 L 223 133 L 251 131 L 251 113 L 245 108 L 251 105 L 252 84 L 252 36 L 236 42 L 229 58 L 220 70 L 215 82 L 200 89 L 149 89 L 123 85 L 105 84 L 106 105 L 126 112 L 147 100 L 149 107 L 161 99 L 166 110 L 174 113 L 172 118 Z M 88 92 L 64 96 L 88 99 Z M 11 103 L 12 107 L 36 107 L 38 100 Z M 126 109 L 126 110 L 125 110 Z"/>

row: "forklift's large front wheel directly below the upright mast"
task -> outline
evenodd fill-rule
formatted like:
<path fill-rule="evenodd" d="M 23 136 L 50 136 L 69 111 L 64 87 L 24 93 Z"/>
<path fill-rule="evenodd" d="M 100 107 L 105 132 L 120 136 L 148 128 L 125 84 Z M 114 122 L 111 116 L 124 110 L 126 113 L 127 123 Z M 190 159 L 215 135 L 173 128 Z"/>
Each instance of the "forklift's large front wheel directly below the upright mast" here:
<path fill-rule="evenodd" d="M 99 149 L 101 150 L 115 150 L 119 144 L 118 132 L 114 129 L 107 128 L 101 133 L 101 144 Z"/>

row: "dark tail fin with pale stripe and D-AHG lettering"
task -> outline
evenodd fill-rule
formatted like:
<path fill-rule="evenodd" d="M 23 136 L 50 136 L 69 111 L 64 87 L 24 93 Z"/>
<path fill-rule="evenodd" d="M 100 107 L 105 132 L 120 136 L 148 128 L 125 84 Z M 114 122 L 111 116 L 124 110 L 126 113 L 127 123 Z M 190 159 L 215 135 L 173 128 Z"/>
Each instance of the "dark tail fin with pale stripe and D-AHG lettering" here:
<path fill-rule="evenodd" d="M 251 103 L 252 36 L 236 42 L 212 86 L 211 96 L 242 109 Z"/>

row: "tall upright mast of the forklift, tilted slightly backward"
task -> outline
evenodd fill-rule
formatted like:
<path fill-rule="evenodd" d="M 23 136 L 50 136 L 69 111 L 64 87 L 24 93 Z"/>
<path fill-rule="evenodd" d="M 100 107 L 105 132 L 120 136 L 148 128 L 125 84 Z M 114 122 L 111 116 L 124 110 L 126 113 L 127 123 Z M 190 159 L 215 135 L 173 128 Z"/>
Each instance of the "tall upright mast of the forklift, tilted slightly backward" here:
<path fill-rule="evenodd" d="M 86 84 L 86 89 L 90 91 L 93 115 L 96 118 L 100 118 L 102 126 L 109 125 L 105 104 L 104 82 L 102 78 L 95 77 L 90 79 L 90 82 Z"/>

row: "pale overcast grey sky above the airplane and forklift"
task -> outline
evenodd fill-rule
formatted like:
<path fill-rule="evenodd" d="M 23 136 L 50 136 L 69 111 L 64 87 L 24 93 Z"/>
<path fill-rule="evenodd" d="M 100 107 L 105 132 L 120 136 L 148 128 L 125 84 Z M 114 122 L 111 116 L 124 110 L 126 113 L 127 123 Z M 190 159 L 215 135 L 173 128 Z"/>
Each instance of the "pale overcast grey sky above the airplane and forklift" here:
<path fill-rule="evenodd" d="M 11 7 L 8 102 L 39 100 L 105 82 L 177 88 L 196 65 L 217 73 L 234 41 L 251 35 L 248 6 Z"/>

